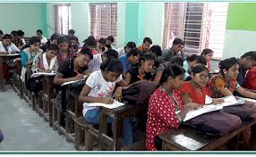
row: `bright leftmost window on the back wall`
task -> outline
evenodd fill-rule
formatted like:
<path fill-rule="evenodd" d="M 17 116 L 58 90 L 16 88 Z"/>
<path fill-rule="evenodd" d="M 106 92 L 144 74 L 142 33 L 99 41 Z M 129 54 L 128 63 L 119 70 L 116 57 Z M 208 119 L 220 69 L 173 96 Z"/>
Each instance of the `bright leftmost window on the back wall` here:
<path fill-rule="evenodd" d="M 71 29 L 71 5 L 55 4 L 55 32 L 67 35 Z"/>

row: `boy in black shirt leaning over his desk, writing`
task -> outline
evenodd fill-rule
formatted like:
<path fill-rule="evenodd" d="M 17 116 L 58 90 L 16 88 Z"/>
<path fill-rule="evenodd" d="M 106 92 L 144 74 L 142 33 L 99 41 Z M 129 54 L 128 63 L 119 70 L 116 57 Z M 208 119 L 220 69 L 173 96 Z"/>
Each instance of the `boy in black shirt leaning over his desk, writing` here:
<path fill-rule="evenodd" d="M 64 112 L 66 109 L 66 88 L 60 87 L 65 82 L 79 80 L 84 77 L 83 71 L 87 66 L 87 63 L 92 60 L 93 55 L 89 48 L 81 49 L 80 53 L 76 58 L 70 58 L 64 62 L 61 62 L 57 74 L 55 75 L 54 83 L 58 85 L 57 90 L 61 91 L 61 102 L 62 102 L 62 115 L 61 115 L 61 126 L 65 126 Z M 59 97 L 59 96 L 58 96 Z"/>

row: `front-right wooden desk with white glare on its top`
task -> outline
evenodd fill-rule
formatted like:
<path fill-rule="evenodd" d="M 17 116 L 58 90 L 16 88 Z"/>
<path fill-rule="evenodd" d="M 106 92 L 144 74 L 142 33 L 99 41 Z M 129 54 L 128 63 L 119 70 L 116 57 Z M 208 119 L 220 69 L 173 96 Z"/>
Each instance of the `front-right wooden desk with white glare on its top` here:
<path fill-rule="evenodd" d="M 197 133 L 194 128 L 182 126 L 170 129 L 159 137 L 162 139 L 163 151 L 211 151 L 226 144 L 227 141 L 244 130 L 251 128 L 255 122 L 256 120 L 243 124 L 228 136 L 207 136 Z"/>

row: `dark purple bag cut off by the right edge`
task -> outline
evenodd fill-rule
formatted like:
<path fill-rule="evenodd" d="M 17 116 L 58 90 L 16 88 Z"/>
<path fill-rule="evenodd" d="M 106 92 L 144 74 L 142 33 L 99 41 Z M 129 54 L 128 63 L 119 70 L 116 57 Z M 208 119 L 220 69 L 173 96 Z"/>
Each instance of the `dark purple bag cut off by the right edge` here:
<path fill-rule="evenodd" d="M 240 117 L 243 121 L 256 120 L 256 106 L 253 104 L 226 106 L 223 110 Z"/>

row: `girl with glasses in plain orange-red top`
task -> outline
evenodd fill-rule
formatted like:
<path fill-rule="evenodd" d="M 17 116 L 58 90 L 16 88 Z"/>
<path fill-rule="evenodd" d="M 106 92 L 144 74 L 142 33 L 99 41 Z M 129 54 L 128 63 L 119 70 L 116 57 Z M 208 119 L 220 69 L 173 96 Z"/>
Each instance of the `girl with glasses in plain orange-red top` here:
<path fill-rule="evenodd" d="M 205 96 L 211 97 L 211 90 L 205 87 L 209 79 L 208 69 L 204 65 L 197 65 L 192 68 L 192 80 L 183 83 L 180 89 L 183 104 L 198 103 L 205 104 Z M 219 101 L 214 100 L 213 103 Z"/>

